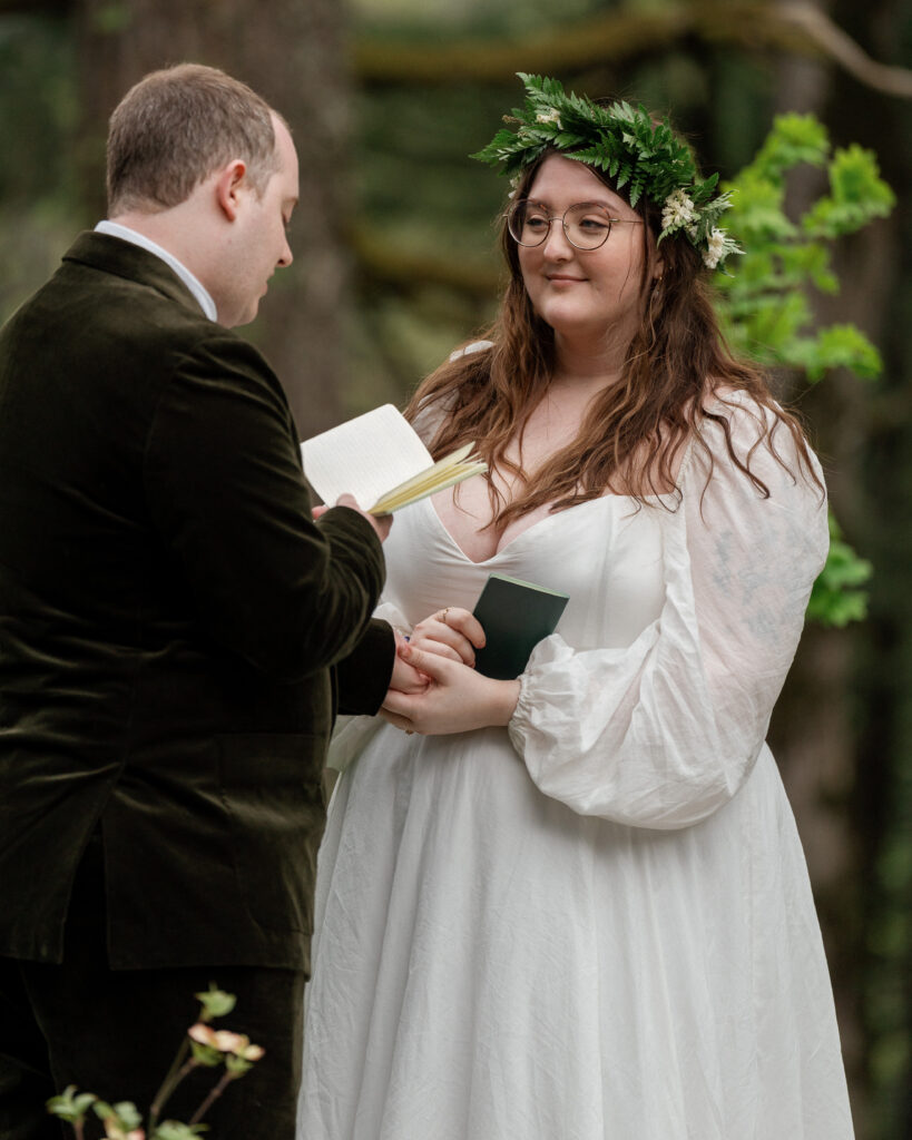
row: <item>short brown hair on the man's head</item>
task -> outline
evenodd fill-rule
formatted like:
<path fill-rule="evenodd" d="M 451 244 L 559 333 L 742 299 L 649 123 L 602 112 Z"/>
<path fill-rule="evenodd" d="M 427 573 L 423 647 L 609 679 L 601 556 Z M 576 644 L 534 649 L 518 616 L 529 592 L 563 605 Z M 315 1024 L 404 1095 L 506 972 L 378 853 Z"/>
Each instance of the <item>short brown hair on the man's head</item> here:
<path fill-rule="evenodd" d="M 107 138 L 108 215 L 185 202 L 213 170 L 243 158 L 258 194 L 278 169 L 272 116 L 246 83 L 202 64 L 150 72 L 121 99 Z"/>

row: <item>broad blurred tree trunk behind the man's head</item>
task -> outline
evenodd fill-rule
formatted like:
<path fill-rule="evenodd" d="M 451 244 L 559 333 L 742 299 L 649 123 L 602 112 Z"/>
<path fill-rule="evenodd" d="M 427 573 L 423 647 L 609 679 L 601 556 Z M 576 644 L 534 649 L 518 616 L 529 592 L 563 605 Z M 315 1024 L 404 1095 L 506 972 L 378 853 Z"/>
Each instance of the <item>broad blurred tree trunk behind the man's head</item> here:
<path fill-rule="evenodd" d="M 350 78 L 336 0 L 78 0 L 83 121 L 78 161 L 88 217 L 104 217 L 107 117 L 149 71 L 195 62 L 244 80 L 288 121 L 301 163 L 291 268 L 245 335 L 282 378 L 299 432 L 343 418 L 349 266 Z"/>

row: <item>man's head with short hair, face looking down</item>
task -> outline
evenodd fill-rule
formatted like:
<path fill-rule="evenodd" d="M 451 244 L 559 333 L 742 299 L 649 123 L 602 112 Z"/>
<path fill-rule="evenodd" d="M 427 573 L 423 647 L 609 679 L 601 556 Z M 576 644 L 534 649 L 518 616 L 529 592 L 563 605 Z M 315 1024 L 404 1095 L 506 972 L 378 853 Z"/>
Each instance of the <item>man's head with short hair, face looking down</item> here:
<path fill-rule="evenodd" d="M 156 242 L 205 286 L 223 325 L 256 316 L 292 260 L 298 155 L 285 120 L 244 83 L 181 64 L 111 116 L 108 218 Z"/>

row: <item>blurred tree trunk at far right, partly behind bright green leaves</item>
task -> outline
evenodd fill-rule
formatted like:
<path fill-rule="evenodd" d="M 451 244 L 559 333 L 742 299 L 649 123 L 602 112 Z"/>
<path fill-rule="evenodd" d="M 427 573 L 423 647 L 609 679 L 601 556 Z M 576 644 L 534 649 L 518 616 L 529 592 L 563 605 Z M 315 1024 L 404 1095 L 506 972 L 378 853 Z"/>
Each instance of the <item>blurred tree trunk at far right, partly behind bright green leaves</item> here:
<path fill-rule="evenodd" d="M 866 32 L 878 15 L 890 24 L 889 2 L 868 5 L 857 17 L 848 2 L 816 6 L 832 11 L 836 22 L 855 34 L 863 48 L 889 60 L 889 42 L 871 42 Z M 901 39 L 895 26 L 893 34 Z M 860 99 L 857 83 L 832 65 L 785 57 L 777 65 L 776 90 L 777 109 L 813 112 L 829 125 L 834 145 L 857 141 L 874 149 L 881 163 L 885 158 L 889 162 L 896 150 L 895 139 L 901 136 L 890 133 L 896 130 L 894 105 L 870 93 Z M 886 170 L 885 174 L 898 189 L 903 181 L 898 172 Z M 790 187 L 790 210 L 800 211 L 823 188 L 819 171 L 797 171 Z M 814 299 L 821 325 L 850 321 L 876 344 L 883 344 L 888 302 L 899 294 L 901 225 L 895 213 L 838 245 L 834 264 L 841 288 L 836 296 Z M 889 488 L 880 488 L 871 496 L 865 487 L 878 399 L 877 388 L 837 370 L 804 404 L 815 426 L 837 518 L 860 553 L 874 559 L 874 528 L 889 528 L 883 505 L 891 497 Z M 890 557 L 886 551 L 882 555 Z M 872 585 L 873 611 L 880 608 L 878 595 L 883 588 L 885 570 L 880 568 Z M 882 1113 L 876 1112 L 873 1101 L 879 1090 L 873 1088 L 877 1082 L 870 1068 L 872 1025 L 866 1001 L 871 885 L 882 849 L 880 828 L 889 760 L 879 747 L 885 726 L 878 723 L 872 733 L 865 702 L 872 700 L 872 686 L 885 679 L 878 654 L 872 653 L 882 634 L 871 621 L 844 632 L 808 629 L 773 727 L 774 747 L 817 901 L 858 1140 L 905 1134 L 883 1132 Z M 893 662 L 887 666 L 891 667 Z M 877 682 L 872 669 L 880 671 Z M 882 701 L 878 699 L 878 703 L 881 717 Z"/>

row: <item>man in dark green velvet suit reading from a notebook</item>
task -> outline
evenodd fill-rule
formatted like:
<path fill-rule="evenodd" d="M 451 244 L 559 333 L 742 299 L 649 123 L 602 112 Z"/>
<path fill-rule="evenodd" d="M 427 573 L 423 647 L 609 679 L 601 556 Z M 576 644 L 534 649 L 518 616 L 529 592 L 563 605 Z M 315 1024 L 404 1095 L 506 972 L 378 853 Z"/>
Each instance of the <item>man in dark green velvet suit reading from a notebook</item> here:
<path fill-rule="evenodd" d="M 231 332 L 292 260 L 284 121 L 219 71 L 148 75 L 108 201 L 0 332 L 0 1137 L 59 1138 L 68 1084 L 145 1112 L 214 982 L 266 1057 L 213 1135 L 291 1138 L 324 749 L 390 681 L 389 520 L 312 521 Z"/>

